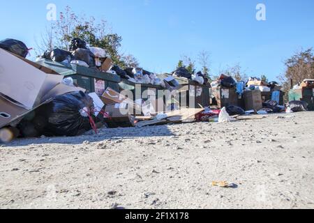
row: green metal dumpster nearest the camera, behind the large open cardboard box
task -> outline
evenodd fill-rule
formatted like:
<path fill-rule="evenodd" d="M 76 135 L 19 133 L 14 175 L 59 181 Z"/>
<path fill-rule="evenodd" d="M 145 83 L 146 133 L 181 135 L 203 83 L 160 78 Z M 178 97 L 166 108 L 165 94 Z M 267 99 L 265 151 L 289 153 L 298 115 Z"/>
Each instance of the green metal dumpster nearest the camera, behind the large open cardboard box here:
<path fill-rule="evenodd" d="M 114 91 L 119 91 L 120 89 L 119 82 L 121 82 L 121 78 L 118 75 L 101 72 L 96 68 L 57 63 L 46 59 L 36 63 L 50 68 L 65 77 L 72 77 L 75 84 L 87 89 L 89 92 L 96 92 L 98 95 L 103 95 L 107 87 L 114 89 Z"/>

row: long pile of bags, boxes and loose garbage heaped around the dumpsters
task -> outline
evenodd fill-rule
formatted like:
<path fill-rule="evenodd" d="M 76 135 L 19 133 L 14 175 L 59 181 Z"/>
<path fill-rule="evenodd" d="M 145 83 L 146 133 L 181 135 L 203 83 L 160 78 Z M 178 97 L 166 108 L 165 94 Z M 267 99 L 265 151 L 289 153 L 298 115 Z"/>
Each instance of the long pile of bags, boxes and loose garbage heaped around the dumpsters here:
<path fill-rule="evenodd" d="M 310 99 L 304 101 L 306 95 L 296 99 L 296 93 L 292 92 L 292 100 L 284 105 L 281 86 L 276 82 L 267 83 L 257 77 L 237 82 L 220 75 L 209 84 L 202 72 L 191 74 L 184 67 L 166 75 L 155 75 L 142 68 L 123 70 L 112 64 L 104 49 L 89 47 L 78 38 L 71 41 L 69 52 L 54 49 L 43 54 L 44 59 L 58 65 L 96 68 L 103 71 L 101 75 L 118 75 L 134 84 L 148 84 L 149 91 L 158 86 L 171 95 L 153 94 L 147 98 L 140 95 L 141 98 L 133 99 L 123 95 L 121 88 L 114 90 L 108 84 L 105 88 L 105 83 L 101 93 L 96 88 L 95 92 L 89 92 L 91 89 L 78 86 L 72 77 L 29 61 L 28 52 L 19 40 L 0 41 L 0 142 L 16 137 L 73 137 L 89 130 L 97 133 L 103 125 L 126 128 L 188 122 L 229 123 L 251 114 L 304 112 L 313 102 L 314 84 L 309 79 L 292 91 L 306 91 L 306 95 L 310 92 Z M 183 98 L 176 95 L 185 95 L 188 104 L 184 105 Z M 198 100 L 194 102 L 195 98 Z"/>

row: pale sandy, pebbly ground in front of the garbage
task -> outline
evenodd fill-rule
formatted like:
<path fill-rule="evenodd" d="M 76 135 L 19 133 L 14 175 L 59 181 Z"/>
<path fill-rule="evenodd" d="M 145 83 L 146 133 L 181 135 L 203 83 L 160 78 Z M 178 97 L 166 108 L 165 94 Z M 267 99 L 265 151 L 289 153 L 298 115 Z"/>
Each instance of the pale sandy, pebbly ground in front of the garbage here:
<path fill-rule="evenodd" d="M 0 208 L 314 208 L 313 127 L 302 112 L 13 141 Z"/>

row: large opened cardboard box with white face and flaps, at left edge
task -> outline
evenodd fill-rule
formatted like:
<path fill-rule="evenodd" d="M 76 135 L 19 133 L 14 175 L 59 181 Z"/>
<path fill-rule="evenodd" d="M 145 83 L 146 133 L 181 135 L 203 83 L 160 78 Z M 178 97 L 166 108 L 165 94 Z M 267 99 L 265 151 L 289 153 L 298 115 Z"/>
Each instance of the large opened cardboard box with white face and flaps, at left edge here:
<path fill-rule="evenodd" d="M 57 95 L 85 91 L 61 84 L 62 79 L 49 68 L 0 49 L 0 128 L 17 125 Z"/>

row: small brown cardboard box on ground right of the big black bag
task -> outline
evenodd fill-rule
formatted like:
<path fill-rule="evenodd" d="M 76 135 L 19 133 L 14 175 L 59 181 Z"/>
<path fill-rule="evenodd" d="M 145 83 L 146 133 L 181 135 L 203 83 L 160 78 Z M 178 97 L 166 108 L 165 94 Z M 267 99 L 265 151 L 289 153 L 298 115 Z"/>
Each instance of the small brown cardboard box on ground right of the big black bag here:
<path fill-rule="evenodd" d="M 133 127 L 135 125 L 135 116 L 130 115 L 128 112 L 121 113 L 121 109 L 128 109 L 127 104 L 112 104 L 105 107 L 105 112 L 110 116 L 105 118 L 109 128 L 119 127 Z"/>

